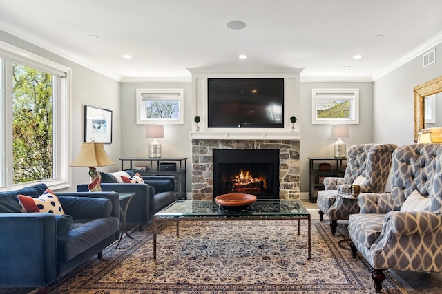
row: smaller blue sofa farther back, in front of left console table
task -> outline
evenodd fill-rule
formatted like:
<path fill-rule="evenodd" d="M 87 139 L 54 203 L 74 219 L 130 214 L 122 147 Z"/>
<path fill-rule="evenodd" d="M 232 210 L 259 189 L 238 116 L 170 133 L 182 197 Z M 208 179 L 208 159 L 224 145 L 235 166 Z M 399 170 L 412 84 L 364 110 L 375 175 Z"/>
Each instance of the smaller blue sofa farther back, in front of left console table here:
<path fill-rule="evenodd" d="M 133 177 L 133 171 L 126 173 Z M 119 193 L 135 192 L 126 213 L 128 224 L 138 224 L 140 231 L 145 224 L 153 221 L 153 215 L 176 200 L 174 176 L 142 176 L 144 184 L 122 183 L 112 174 L 101 173 L 103 191 Z M 78 192 L 88 191 L 88 184 L 77 185 Z M 120 204 L 126 207 L 126 201 Z"/>

